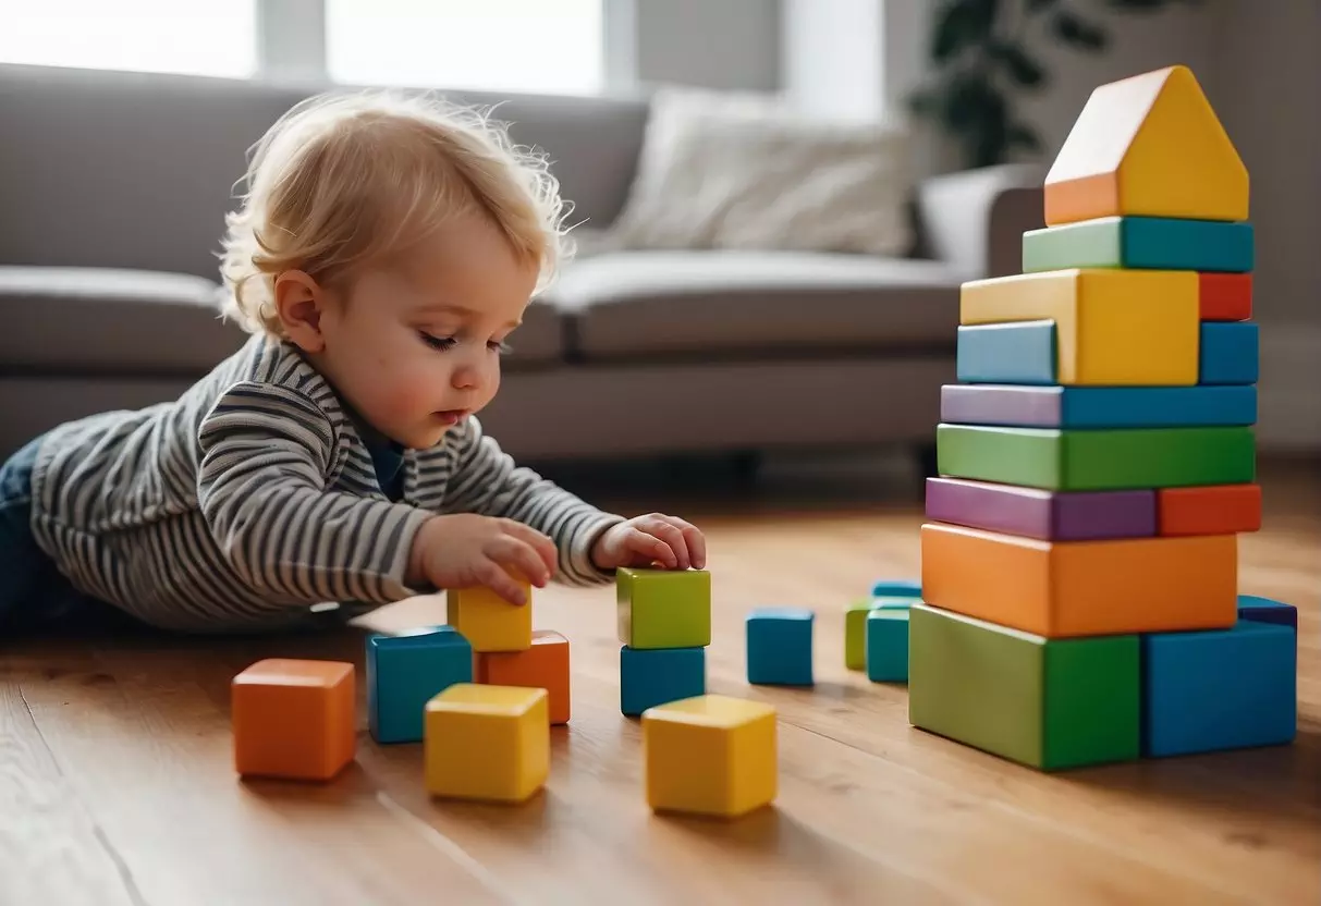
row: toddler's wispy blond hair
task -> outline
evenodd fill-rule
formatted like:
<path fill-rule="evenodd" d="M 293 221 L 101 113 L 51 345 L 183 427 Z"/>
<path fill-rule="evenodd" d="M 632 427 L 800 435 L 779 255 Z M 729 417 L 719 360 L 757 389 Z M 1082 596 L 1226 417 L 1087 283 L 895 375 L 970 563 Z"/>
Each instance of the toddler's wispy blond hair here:
<path fill-rule="evenodd" d="M 487 111 L 425 94 L 309 98 L 254 145 L 242 206 L 226 217 L 225 314 L 281 335 L 275 279 L 322 283 L 400 251 L 456 214 L 482 213 L 524 261 L 536 291 L 571 254 L 567 205 L 544 155 L 510 143 Z"/>

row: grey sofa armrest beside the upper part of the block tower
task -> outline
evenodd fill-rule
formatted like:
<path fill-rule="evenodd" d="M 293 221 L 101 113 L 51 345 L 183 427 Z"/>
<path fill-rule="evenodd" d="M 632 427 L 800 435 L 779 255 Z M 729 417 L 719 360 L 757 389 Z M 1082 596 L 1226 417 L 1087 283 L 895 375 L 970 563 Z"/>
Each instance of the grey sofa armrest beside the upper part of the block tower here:
<path fill-rule="evenodd" d="M 1044 173 L 1003 164 L 925 180 L 918 217 L 933 258 L 963 280 L 1022 269 L 1022 234 L 1045 226 Z"/>

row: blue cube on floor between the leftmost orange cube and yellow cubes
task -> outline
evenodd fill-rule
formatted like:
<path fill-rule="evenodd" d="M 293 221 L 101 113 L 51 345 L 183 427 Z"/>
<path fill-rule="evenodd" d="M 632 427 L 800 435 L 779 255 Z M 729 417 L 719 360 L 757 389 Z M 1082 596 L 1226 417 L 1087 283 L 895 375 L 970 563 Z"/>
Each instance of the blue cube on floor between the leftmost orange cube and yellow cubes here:
<path fill-rule="evenodd" d="M 421 742 L 427 703 L 473 681 L 473 646 L 453 626 L 367 637 L 367 729 L 376 742 Z"/>

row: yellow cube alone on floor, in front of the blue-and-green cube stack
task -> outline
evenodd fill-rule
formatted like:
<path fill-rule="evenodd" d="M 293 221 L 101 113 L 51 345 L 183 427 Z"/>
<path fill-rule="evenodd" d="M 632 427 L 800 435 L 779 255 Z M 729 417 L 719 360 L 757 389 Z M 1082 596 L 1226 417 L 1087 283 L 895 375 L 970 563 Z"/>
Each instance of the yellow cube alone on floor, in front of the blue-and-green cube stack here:
<path fill-rule="evenodd" d="M 737 818 L 775 799 L 775 709 L 699 695 L 642 712 L 642 761 L 654 811 Z"/>

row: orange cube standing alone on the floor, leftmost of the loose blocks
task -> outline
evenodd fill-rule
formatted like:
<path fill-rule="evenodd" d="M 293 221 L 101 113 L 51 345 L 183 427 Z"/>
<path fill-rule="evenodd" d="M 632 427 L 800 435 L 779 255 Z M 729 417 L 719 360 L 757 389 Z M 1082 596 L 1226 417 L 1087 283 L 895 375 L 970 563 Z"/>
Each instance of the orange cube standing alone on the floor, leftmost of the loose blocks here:
<path fill-rule="evenodd" d="M 259 660 L 230 684 L 234 769 L 329 781 L 357 750 L 354 668 L 338 660 Z"/>

